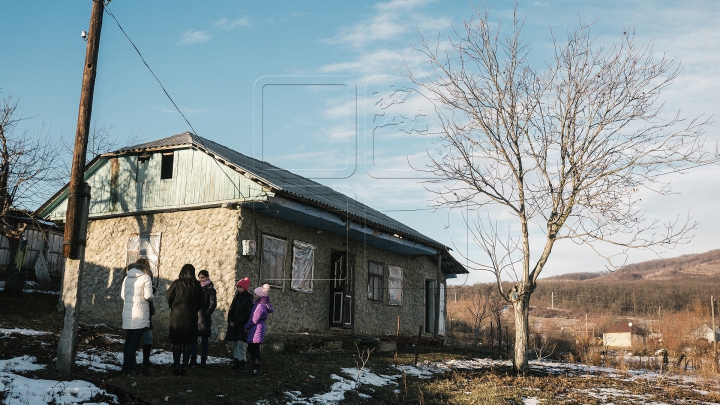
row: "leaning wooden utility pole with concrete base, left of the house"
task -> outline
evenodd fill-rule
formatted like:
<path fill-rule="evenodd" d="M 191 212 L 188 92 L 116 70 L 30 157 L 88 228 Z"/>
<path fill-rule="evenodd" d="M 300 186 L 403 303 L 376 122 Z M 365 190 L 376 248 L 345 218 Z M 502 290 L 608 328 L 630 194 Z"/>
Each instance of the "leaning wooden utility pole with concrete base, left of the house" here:
<path fill-rule="evenodd" d="M 100 51 L 100 33 L 102 31 L 105 0 L 93 0 L 88 28 L 85 67 L 83 69 L 80 107 L 75 149 L 73 150 L 72 170 L 68 190 L 68 206 L 65 217 L 65 240 L 63 256 L 65 273 L 63 277 L 62 301 L 65 306 L 65 320 L 58 340 L 57 370 L 72 372 L 77 351 L 78 316 L 80 314 L 80 283 L 85 267 L 85 239 L 87 237 L 87 217 L 90 202 L 90 187 L 85 183 L 85 155 L 87 153 L 90 118 L 92 115 L 95 75 Z"/>

